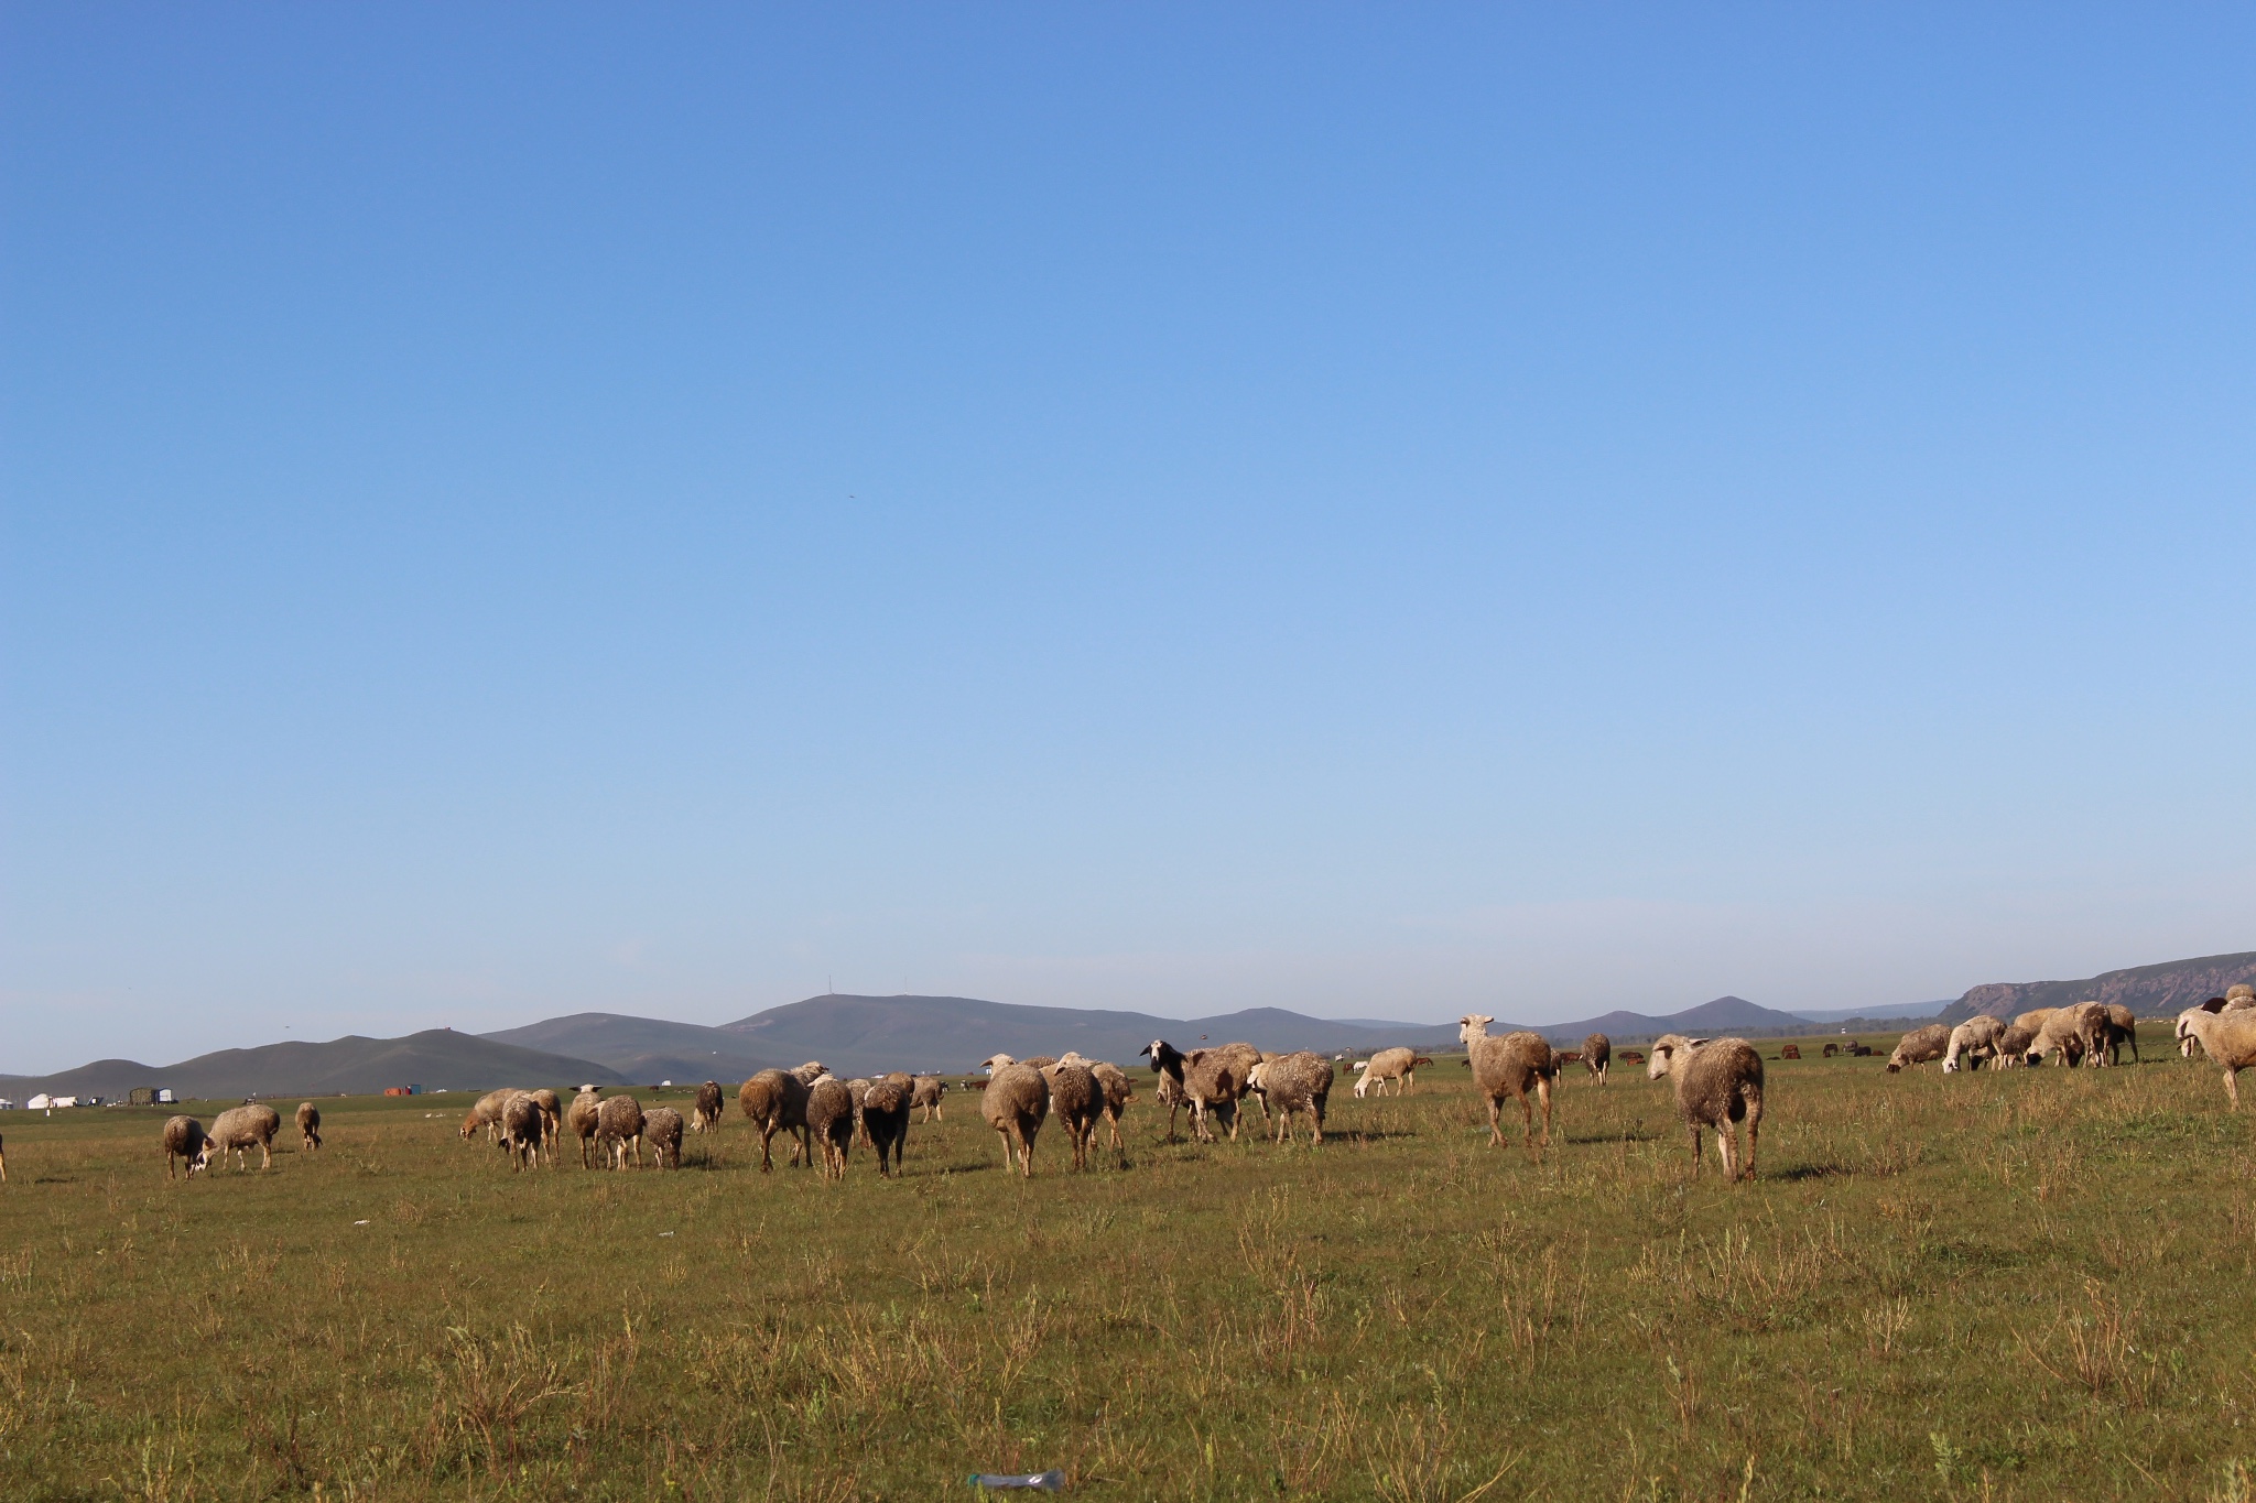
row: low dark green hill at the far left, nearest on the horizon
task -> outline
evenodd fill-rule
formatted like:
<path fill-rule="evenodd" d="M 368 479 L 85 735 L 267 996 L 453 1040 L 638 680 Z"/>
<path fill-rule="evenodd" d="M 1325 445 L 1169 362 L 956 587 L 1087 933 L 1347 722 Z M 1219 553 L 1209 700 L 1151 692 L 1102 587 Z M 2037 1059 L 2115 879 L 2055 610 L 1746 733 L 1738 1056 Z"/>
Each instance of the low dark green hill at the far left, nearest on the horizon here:
<path fill-rule="evenodd" d="M 246 1095 L 365 1095 L 386 1086 L 426 1091 L 490 1091 L 494 1086 L 623 1086 L 627 1077 L 589 1059 L 496 1043 L 451 1028 L 404 1039 L 347 1034 L 327 1043 L 268 1043 L 217 1050 L 167 1066 L 97 1059 L 61 1075 L 0 1075 L 0 1091 L 25 1100 L 50 1095 L 122 1097 L 133 1086 L 169 1086 L 180 1100 L 239 1100 Z"/>

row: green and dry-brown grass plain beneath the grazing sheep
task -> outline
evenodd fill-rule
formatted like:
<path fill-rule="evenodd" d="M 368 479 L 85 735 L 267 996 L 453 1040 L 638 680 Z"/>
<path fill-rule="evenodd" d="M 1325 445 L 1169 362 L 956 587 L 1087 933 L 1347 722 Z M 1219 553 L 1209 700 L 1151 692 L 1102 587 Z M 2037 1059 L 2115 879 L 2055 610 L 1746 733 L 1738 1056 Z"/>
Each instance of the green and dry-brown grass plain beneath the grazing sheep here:
<path fill-rule="evenodd" d="M 735 1115 L 510 1174 L 465 1095 L 329 1100 L 167 1183 L 169 1109 L 7 1113 L 0 1496 L 2247 1503 L 2256 1113 L 2159 1032 L 1771 1064 L 1739 1188 L 1620 1066 L 1541 1165 L 1455 1059 L 1320 1149 L 1164 1145 L 1137 1075 L 1128 1167 L 1047 1131 L 1031 1183 L 975 1095 L 844 1185 Z"/>

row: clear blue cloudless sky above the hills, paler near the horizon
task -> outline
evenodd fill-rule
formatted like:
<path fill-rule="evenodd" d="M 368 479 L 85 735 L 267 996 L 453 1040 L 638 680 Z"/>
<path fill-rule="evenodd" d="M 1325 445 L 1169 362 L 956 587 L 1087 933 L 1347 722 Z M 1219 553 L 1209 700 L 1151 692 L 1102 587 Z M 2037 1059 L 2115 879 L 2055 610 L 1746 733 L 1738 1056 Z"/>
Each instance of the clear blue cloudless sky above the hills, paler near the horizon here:
<path fill-rule="evenodd" d="M 2251 79 L 2247 7 L 7 5 L 0 1070 L 2256 949 Z"/>

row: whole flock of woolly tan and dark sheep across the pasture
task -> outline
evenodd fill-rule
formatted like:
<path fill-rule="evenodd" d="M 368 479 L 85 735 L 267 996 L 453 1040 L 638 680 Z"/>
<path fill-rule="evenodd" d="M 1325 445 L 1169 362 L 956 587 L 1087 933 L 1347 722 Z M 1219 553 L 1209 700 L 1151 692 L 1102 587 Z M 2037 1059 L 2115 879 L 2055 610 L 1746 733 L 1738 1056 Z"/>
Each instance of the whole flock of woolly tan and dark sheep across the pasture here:
<path fill-rule="evenodd" d="M 1606 1082 L 1613 1061 L 1613 1046 L 1606 1034 L 1590 1034 L 1577 1052 L 1554 1052 L 1534 1032 L 1489 1034 L 1496 1019 L 1466 1014 L 1457 1019 L 1457 1037 L 1464 1041 L 1466 1066 L 1473 1070 L 1473 1091 L 1489 1106 L 1489 1142 L 1505 1145 L 1505 1102 L 1521 1109 L 1523 1140 L 1539 1154 L 1550 1147 L 1552 1086 L 1568 1064 L 1581 1064 L 1597 1084 Z M 1992 1016 L 1974 1016 L 1956 1028 L 1933 1023 L 1902 1037 L 1888 1057 L 1888 1070 L 1942 1061 L 1942 1070 L 1958 1073 L 1983 1061 L 1990 1068 L 2039 1066 L 2060 1059 L 2064 1066 L 2112 1064 L 2123 1046 L 2132 1059 L 2139 1057 L 2136 1023 L 2127 1007 L 2105 1003 L 2076 1003 L 2073 1007 L 2039 1007 L 2024 1012 L 2010 1023 Z M 2238 1073 L 2256 1066 L 2256 987 L 2233 987 L 2224 996 L 2213 996 L 2200 1007 L 2188 1007 L 2177 1016 L 2179 1052 L 2188 1059 L 2200 1050 L 2224 1068 L 2224 1091 L 2233 1109 L 2240 1106 Z M 1295 1136 L 1295 1118 L 1306 1118 L 1311 1142 L 1324 1140 L 1324 1109 L 1331 1100 L 1336 1066 L 1322 1055 L 1299 1050 L 1293 1055 L 1270 1055 L 1252 1043 L 1223 1043 L 1218 1048 L 1178 1050 L 1166 1039 L 1153 1039 L 1139 1057 L 1151 1059 L 1157 1075 L 1155 1100 L 1169 1109 L 1166 1136 L 1175 1138 L 1175 1118 L 1191 1113 L 1191 1133 L 1200 1142 L 1214 1142 L 1216 1129 L 1239 1136 L 1241 1106 L 1252 1102 L 1261 1109 L 1277 1142 Z M 1800 1057 L 1798 1050 L 1787 1050 Z M 1622 1052 L 1624 1064 L 1638 1064 L 1640 1055 Z M 1385 1095 L 1392 1084 L 1403 1093 L 1430 1059 L 1408 1048 L 1378 1050 L 1360 1061 L 1356 1097 L 1369 1091 Z M 1762 1052 L 1746 1039 L 1685 1039 L 1665 1034 L 1651 1043 L 1647 1079 L 1667 1079 L 1676 1093 L 1676 1111 L 1692 1138 L 1692 1167 L 1701 1165 L 1703 1133 L 1715 1131 L 1717 1151 L 1724 1160 L 1726 1179 L 1753 1179 L 1755 1140 L 1762 1129 Z M 1051 1118 L 1067 1133 L 1074 1167 L 1087 1170 L 1094 1160 L 1096 1129 L 1110 1127 L 1110 1145 L 1121 1149 L 1121 1111 L 1135 1097 L 1128 1075 L 1101 1059 L 1083 1059 L 1067 1052 L 1063 1057 L 1013 1059 L 995 1055 L 984 1064 L 988 1079 L 979 1082 L 979 1111 L 988 1127 L 1002 1138 L 1004 1165 L 1022 1176 L 1033 1174 L 1033 1145 L 1042 1124 Z M 772 1142 L 776 1133 L 792 1138 L 792 1165 L 812 1165 L 817 1145 L 823 1156 L 828 1179 L 846 1176 L 846 1156 L 860 1140 L 878 1156 L 878 1174 L 900 1172 L 900 1149 L 909 1136 L 909 1115 L 918 1109 L 925 1120 L 941 1115 L 948 1082 L 936 1075 L 893 1073 L 875 1079 L 839 1079 L 821 1061 L 808 1061 L 794 1070 L 760 1070 L 738 1091 L 738 1109 L 760 1133 L 760 1170 L 774 1170 Z M 697 1088 L 690 1111 L 690 1131 L 715 1131 L 722 1122 L 722 1086 L 706 1082 Z M 1534 1115 L 1543 1113 L 1543 1131 L 1536 1136 Z M 1739 1156 L 1737 1129 L 1746 1124 L 1746 1154 Z M 282 1129 L 282 1118 L 273 1106 L 246 1102 L 232 1106 L 205 1129 L 196 1118 L 178 1115 L 165 1122 L 165 1174 L 174 1176 L 178 1163 L 187 1163 L 187 1174 L 210 1167 L 214 1160 L 235 1154 L 239 1170 L 248 1167 L 253 1147 L 262 1154 L 262 1165 L 273 1163 L 273 1138 Z M 641 1167 L 643 1149 L 659 1167 L 681 1167 L 681 1113 L 672 1106 L 643 1111 L 632 1095 L 602 1095 L 596 1086 L 582 1086 L 571 1106 L 555 1091 L 490 1091 L 462 1118 L 462 1138 L 481 1133 L 508 1151 L 512 1167 L 528 1170 L 546 1160 L 555 1165 L 564 1131 L 580 1140 L 582 1167 L 625 1167 L 629 1154 Z M 320 1111 L 305 1102 L 298 1106 L 300 1149 L 320 1147 Z M 5 1163 L 5 1160 L 0 1160 Z M 5 1170 L 0 1170 L 5 1174 Z"/>

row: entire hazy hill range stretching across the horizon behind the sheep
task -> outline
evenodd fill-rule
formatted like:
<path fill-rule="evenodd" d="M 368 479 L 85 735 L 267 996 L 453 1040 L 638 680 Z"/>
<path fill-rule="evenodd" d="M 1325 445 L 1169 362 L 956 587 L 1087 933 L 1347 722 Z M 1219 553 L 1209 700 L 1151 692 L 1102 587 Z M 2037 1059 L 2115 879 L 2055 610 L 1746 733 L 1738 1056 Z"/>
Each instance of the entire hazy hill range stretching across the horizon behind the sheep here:
<path fill-rule="evenodd" d="M 1974 1012 L 2010 1016 L 2028 1007 L 2098 998 L 2125 1003 L 2143 1016 L 2170 1014 L 2227 987 L 2256 980 L 2256 951 L 2204 955 L 2164 964 L 2107 971 L 2089 980 L 1994 982 L 1969 989 L 1942 1021 Z M 1683 1034 L 1798 1034 L 1814 1028 L 1870 1023 L 1884 1032 L 1933 1016 L 1936 1003 L 1879 1007 L 1863 1016 L 1845 1012 L 1796 1014 L 1760 1007 L 1739 996 L 1719 996 L 1672 1014 L 1609 1012 L 1575 1023 L 1543 1023 L 1532 1032 L 1554 1043 L 1579 1043 L 1602 1032 L 1642 1041 L 1665 1032 Z M 1906 1016 L 1909 1014 L 1909 1016 Z M 1491 1032 L 1521 1028 L 1498 1021 Z M 23 1100 L 36 1091 L 77 1095 L 124 1095 L 133 1086 L 169 1086 L 183 1100 L 232 1100 L 244 1095 L 372 1093 L 386 1086 L 424 1088 L 600 1086 L 652 1084 L 661 1079 L 735 1082 L 769 1066 L 821 1059 L 846 1075 L 875 1070 L 972 1070 L 990 1055 L 1063 1055 L 1081 1050 L 1090 1059 L 1130 1064 L 1146 1043 L 1166 1039 L 1178 1048 L 1245 1039 L 1268 1050 L 1318 1050 L 1322 1055 L 1367 1055 L 1408 1046 L 1426 1052 L 1457 1048 L 1455 1023 L 1378 1023 L 1372 1019 L 1311 1019 L 1281 1007 L 1252 1007 L 1209 1019 L 1160 1019 L 1146 1012 L 1092 1012 L 1081 1007 L 1020 1007 L 972 996 L 810 996 L 769 1007 L 735 1023 L 668 1023 L 614 1012 L 575 1012 L 492 1034 L 460 1034 L 435 1028 L 406 1039 L 332 1039 L 327 1043 L 268 1043 L 253 1050 L 219 1050 L 169 1066 L 133 1059 L 99 1059 L 47 1077 L 0 1075 L 0 1093 Z"/>

